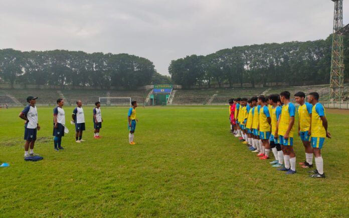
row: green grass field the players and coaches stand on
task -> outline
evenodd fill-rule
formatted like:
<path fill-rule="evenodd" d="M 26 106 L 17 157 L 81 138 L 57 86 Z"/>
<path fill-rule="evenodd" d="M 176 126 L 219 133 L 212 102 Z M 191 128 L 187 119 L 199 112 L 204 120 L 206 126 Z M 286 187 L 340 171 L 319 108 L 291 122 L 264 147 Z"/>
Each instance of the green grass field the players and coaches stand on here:
<path fill-rule="evenodd" d="M 73 126 L 55 152 L 52 109 L 39 107 L 39 162 L 23 160 L 22 108 L 0 110 L 0 216 L 349 216 L 349 113 L 327 110 L 325 179 L 297 165 L 285 175 L 229 132 L 227 106 L 137 108 L 136 145 L 128 144 L 127 108 L 102 108 L 94 139 L 85 107 L 84 143 Z M 66 120 L 72 107 L 66 107 Z M 295 137 L 297 162 L 305 158 Z"/>

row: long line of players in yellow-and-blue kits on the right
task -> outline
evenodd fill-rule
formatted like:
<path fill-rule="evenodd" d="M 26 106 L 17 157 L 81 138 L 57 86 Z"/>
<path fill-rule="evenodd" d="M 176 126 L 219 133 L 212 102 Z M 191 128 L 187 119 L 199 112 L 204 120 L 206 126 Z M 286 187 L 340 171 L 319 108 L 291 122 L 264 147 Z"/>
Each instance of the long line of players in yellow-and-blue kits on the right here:
<path fill-rule="evenodd" d="M 304 92 L 297 92 L 295 101 L 299 104 L 298 135 L 305 148 L 303 168 L 312 168 L 313 154 L 316 169 L 309 171 L 310 177 L 324 178 L 321 148 L 327 131 L 325 109 L 318 102 L 319 94 L 311 92 L 305 99 Z M 293 150 L 295 105 L 290 101 L 290 92 L 254 96 L 250 99 L 229 100 L 229 119 L 231 131 L 249 146 L 252 152 L 258 152 L 260 159 L 269 159 L 270 149 L 275 160 L 270 163 L 286 174 L 296 173 L 296 155 Z"/>

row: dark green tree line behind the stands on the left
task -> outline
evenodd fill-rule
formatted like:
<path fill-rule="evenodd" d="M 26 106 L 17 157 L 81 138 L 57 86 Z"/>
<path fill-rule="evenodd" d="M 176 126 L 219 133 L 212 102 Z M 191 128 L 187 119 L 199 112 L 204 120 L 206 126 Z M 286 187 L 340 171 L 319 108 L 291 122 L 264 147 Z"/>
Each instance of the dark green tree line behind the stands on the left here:
<path fill-rule="evenodd" d="M 126 53 L 86 53 L 51 50 L 0 49 L 0 82 L 36 85 L 134 88 L 151 83 L 169 83 L 143 57 Z"/>

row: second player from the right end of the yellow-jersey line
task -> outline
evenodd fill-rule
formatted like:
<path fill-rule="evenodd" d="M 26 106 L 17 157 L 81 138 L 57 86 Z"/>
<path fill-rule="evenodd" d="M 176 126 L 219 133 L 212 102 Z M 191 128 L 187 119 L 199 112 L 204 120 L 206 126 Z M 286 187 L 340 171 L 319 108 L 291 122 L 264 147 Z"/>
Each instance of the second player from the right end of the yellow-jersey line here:
<path fill-rule="evenodd" d="M 312 167 L 313 149 L 310 144 L 310 132 L 311 132 L 311 110 L 312 104 L 305 101 L 305 93 L 299 91 L 294 94 L 294 99 L 299 104 L 298 111 L 298 135 L 303 142 L 305 148 L 305 161 L 300 162 L 303 168 Z"/>

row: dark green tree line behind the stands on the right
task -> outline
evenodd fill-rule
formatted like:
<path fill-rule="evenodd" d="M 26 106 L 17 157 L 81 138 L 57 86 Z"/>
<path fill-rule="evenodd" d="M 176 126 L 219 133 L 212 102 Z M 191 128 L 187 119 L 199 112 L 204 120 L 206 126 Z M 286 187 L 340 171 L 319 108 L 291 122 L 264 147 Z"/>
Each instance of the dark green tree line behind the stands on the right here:
<path fill-rule="evenodd" d="M 344 37 L 344 71 L 349 74 L 349 37 Z M 208 55 L 172 60 L 172 81 L 189 88 L 211 85 L 288 82 L 290 85 L 329 83 L 332 35 L 315 41 L 235 46 Z"/>

